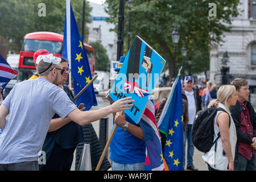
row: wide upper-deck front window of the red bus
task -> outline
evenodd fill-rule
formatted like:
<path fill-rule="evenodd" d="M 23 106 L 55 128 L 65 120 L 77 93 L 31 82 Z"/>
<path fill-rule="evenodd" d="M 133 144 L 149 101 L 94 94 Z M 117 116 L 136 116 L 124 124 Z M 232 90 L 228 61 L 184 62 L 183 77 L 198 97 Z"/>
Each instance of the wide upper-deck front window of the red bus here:
<path fill-rule="evenodd" d="M 25 39 L 22 45 L 22 51 L 35 52 L 38 49 L 47 49 L 51 53 L 62 52 L 62 42 L 49 40 Z"/>

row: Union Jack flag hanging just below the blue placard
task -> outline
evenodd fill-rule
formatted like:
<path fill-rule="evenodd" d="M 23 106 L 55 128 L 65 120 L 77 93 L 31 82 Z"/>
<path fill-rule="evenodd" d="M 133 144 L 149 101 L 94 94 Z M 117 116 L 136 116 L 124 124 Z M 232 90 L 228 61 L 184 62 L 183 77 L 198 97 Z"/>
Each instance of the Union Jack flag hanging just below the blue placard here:
<path fill-rule="evenodd" d="M 139 122 L 147 147 L 146 162 L 144 163 L 145 171 L 162 171 L 164 169 L 161 140 L 154 113 L 154 101 L 148 100 L 146 109 Z"/>

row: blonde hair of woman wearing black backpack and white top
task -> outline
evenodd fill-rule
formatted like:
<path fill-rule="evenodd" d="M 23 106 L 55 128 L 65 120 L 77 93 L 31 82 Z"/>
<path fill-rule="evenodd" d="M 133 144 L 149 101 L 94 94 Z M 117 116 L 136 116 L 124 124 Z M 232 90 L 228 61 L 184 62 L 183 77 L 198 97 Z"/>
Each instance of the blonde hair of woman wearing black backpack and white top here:
<path fill-rule="evenodd" d="M 217 99 L 210 101 L 208 108 L 218 107 L 218 104 L 223 104 L 229 111 L 227 100 L 228 98 L 236 92 L 236 88 L 233 85 L 222 85 L 217 92 Z"/>

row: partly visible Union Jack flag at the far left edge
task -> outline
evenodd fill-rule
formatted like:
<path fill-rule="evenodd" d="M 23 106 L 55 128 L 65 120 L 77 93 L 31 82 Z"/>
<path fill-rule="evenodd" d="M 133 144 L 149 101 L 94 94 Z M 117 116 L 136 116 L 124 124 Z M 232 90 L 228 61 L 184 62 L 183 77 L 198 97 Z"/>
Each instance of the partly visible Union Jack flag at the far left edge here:
<path fill-rule="evenodd" d="M 18 74 L 14 71 L 14 69 L 11 68 L 7 61 L 0 55 L 0 87 L 2 87 L 2 95 L 3 89 L 5 89 L 8 82 L 17 75 Z"/>

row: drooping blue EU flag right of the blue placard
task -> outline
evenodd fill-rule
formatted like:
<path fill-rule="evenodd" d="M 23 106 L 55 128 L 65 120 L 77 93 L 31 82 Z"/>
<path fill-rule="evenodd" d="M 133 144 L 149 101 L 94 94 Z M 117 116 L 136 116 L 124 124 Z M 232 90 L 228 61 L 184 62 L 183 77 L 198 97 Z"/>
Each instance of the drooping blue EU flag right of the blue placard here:
<path fill-rule="evenodd" d="M 166 171 L 183 171 L 183 102 L 180 75 L 177 76 L 164 105 L 159 118 L 158 129 L 166 135 L 163 151 L 164 169 Z"/>

